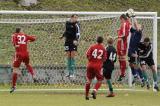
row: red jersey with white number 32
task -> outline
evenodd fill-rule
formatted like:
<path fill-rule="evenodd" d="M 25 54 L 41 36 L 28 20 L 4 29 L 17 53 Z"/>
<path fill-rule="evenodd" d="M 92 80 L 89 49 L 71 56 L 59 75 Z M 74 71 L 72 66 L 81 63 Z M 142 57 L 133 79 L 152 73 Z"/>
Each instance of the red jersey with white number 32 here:
<path fill-rule="evenodd" d="M 16 53 L 28 53 L 27 44 L 29 41 L 35 41 L 35 37 L 24 33 L 14 33 L 12 35 L 12 43 L 15 46 Z"/>

